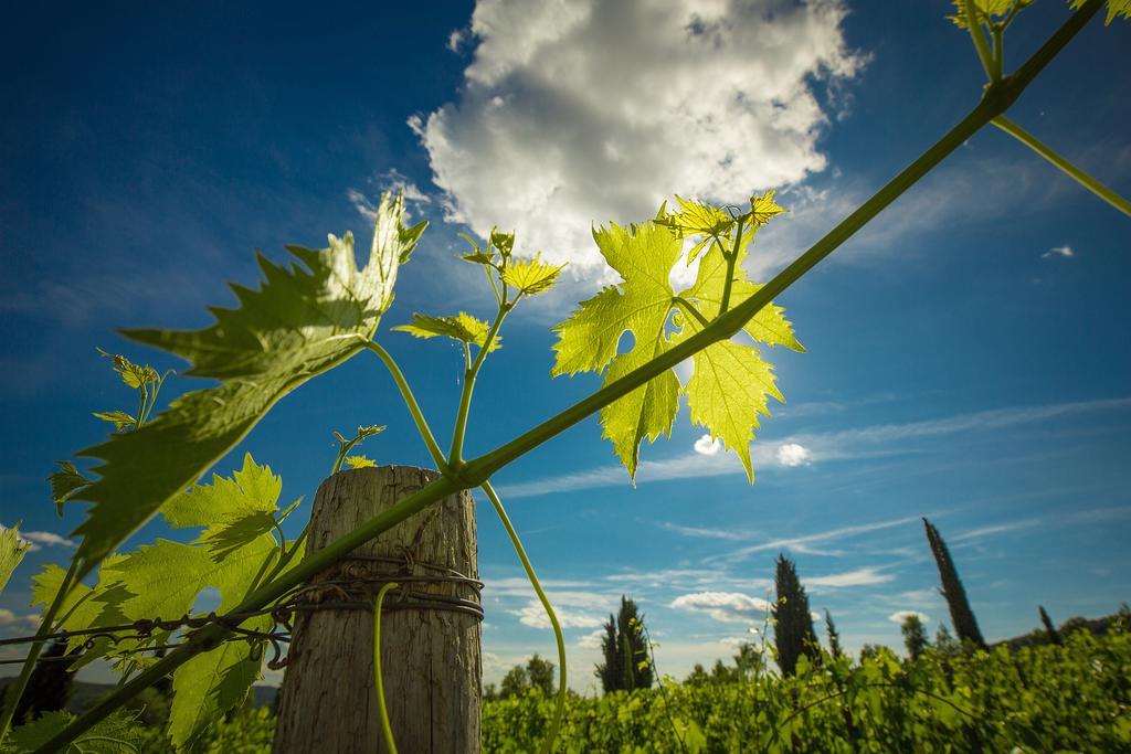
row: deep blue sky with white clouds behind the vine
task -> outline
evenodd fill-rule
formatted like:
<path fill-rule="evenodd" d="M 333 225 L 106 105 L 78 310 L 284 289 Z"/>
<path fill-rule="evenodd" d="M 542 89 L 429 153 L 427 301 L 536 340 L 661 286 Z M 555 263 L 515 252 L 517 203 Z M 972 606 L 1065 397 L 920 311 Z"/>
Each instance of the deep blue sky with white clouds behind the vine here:
<path fill-rule="evenodd" d="M 0 81 L 0 521 L 21 519 L 40 548 L 0 597 L 0 632 L 27 630 L 28 579 L 69 557 L 83 518 L 55 517 L 51 462 L 103 439 L 92 410 L 132 400 L 94 347 L 178 366 L 115 329 L 207 323 L 206 305 L 231 302 L 223 281 L 257 279 L 252 250 L 282 259 L 284 243 L 345 229 L 364 248 L 366 202 L 409 188 L 433 224 L 378 337 L 441 435 L 460 354 L 389 327 L 416 310 L 491 313 L 454 259 L 456 233 L 498 223 L 569 261 L 487 363 L 477 454 L 598 387 L 549 374 L 550 327 L 611 279 L 590 223 L 642 219 L 673 193 L 777 187 L 793 211 L 753 248 L 766 279 L 982 85 L 941 1 L 718 2 L 696 17 L 685 2 L 547 5 L 16 11 L 0 32 L 16 71 Z M 1065 14 L 1026 11 L 1008 60 Z M 1129 49 L 1125 23 L 1094 21 L 1010 113 L 1123 196 Z M 568 626 L 575 687 L 595 686 L 593 634 L 621 593 L 646 614 L 662 671 L 728 658 L 761 623 L 779 552 L 849 649 L 897 645 L 900 610 L 933 633 L 947 615 L 922 515 L 991 639 L 1030 630 L 1037 604 L 1055 619 L 1116 609 L 1131 596 L 1129 251 L 1126 217 L 983 131 L 777 302 L 808 353 L 767 354 L 788 402 L 759 433 L 753 486 L 733 457 L 696 450 L 685 409 L 642 450 L 636 488 L 596 419 L 501 471 Z M 175 379 L 166 397 L 190 387 Z M 284 400 L 219 470 L 248 450 L 309 500 L 330 432 L 370 423 L 389 426 L 371 457 L 428 465 L 388 375 L 360 357 Z M 150 525 L 131 544 L 164 534 Z M 495 681 L 552 656 L 553 638 L 486 505 L 480 557 Z"/>

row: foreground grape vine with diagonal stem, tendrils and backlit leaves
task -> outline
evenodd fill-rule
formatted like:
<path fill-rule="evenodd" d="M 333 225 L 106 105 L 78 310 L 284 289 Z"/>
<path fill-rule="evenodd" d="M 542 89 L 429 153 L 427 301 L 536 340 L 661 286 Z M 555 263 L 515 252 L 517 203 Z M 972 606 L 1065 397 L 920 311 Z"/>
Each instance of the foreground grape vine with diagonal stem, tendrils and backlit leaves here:
<path fill-rule="evenodd" d="M 772 300 L 801 279 L 866 225 L 904 191 L 931 172 L 970 136 L 993 124 L 1013 136 L 1117 210 L 1131 205 L 1005 118 L 1005 111 L 1104 6 L 1103 0 L 1072 0 L 1074 12 L 1042 47 L 1012 73 L 1005 73 L 1007 29 L 1028 0 L 956 0 L 952 20 L 966 29 L 986 72 L 977 105 L 938 142 L 912 162 L 824 237 L 765 285 L 746 278 L 743 261 L 757 231 L 785 209 L 772 191 L 751 197 L 749 206 L 716 206 L 676 198 L 651 219 L 628 227 L 608 225 L 594 232 L 596 244 L 621 283 L 585 301 L 559 324 L 553 373 L 603 374 L 601 389 L 515 440 L 475 459 L 464 459 L 464 441 L 476 380 L 487 356 L 502 346 L 501 329 L 526 298 L 549 291 L 561 268 L 516 255 L 513 234 L 493 231 L 481 246 L 467 240 L 465 261 L 483 269 L 498 304 L 491 321 L 466 312 L 416 313 L 395 328 L 417 338 L 446 337 L 464 354 L 463 389 L 451 444 L 444 453 L 424 413 L 388 352 L 374 337 L 392 302 L 400 265 L 409 261 L 426 223 L 404 224 L 404 202 L 386 196 L 374 224 L 373 244 L 359 269 L 353 236 L 329 236 L 321 251 L 288 246 L 290 267 L 260 257 L 264 281 L 258 289 L 233 286 L 239 305 L 214 309 L 216 321 L 196 331 L 130 330 L 137 343 L 156 346 L 189 362 L 183 372 L 218 384 L 187 392 L 153 416 L 169 372 L 159 374 L 123 356 L 110 356 L 123 382 L 138 393 L 138 408 L 101 411 L 114 433 L 78 453 L 95 459 L 89 471 L 59 461 L 51 476 L 52 497 L 60 512 L 76 501 L 90 503 L 74 536 L 81 538 L 68 569 L 49 566 L 34 582 L 34 599 L 43 618 L 20 676 L 0 718 L 0 743 L 9 736 L 12 712 L 43 643 L 60 632 L 83 645 L 80 664 L 104 658 L 121 673 L 119 687 L 88 712 L 52 730 L 43 726 L 11 731 L 6 745 L 19 751 L 58 751 L 92 737 L 116 737 L 129 748 L 130 720 L 116 710 L 132 695 L 172 676 L 173 710 L 167 730 L 178 749 L 185 749 L 225 711 L 247 695 L 258 677 L 262 643 L 271 635 L 277 606 L 316 573 L 406 518 L 461 489 L 482 487 L 508 534 L 550 615 L 558 639 L 560 695 L 543 751 L 553 745 L 567 690 L 561 630 L 537 582 L 518 534 L 491 486 L 493 474 L 581 419 L 599 414 L 607 437 L 634 477 L 640 445 L 667 435 L 683 396 L 691 421 L 735 452 L 753 478 L 749 445 L 759 415 L 768 415 L 769 398 L 782 399 L 761 346 L 803 350 L 784 310 Z M 1131 17 L 1131 0 L 1110 0 L 1107 23 Z M 685 252 L 684 248 L 690 249 Z M 694 283 L 679 293 L 671 272 L 681 259 L 698 262 Z M 633 345 L 620 350 L 622 336 Z M 305 381 L 354 355 L 373 352 L 388 369 L 441 477 L 406 496 L 396 506 L 365 521 L 318 553 L 304 556 L 305 534 L 287 541 L 280 523 L 301 501 L 280 508 L 282 480 L 270 468 L 247 456 L 231 477 L 201 476 L 240 442 L 266 413 Z M 681 384 L 673 369 L 684 359 L 694 371 Z M 351 454 L 381 427 L 362 426 L 346 440 L 335 433 L 338 453 L 333 470 L 373 461 Z M 94 475 L 93 477 L 86 474 Z M 172 528 L 195 529 L 190 544 L 157 540 L 138 549 L 115 549 L 139 527 L 161 515 Z M 26 553 L 16 528 L 0 532 L 0 588 Z M 97 570 L 95 586 L 84 579 Z M 218 613 L 234 621 L 205 621 L 193 606 L 206 589 L 219 593 Z M 183 623 L 159 616 L 185 616 Z M 379 613 L 378 613 L 379 615 Z M 150 621 L 149 630 L 121 640 L 98 636 L 98 630 Z M 196 623 L 193 623 L 196 621 Z M 89 633 L 84 633 L 89 632 Z M 89 641 L 85 636 L 95 636 Z M 242 641 L 226 641 L 236 635 Z M 175 647 L 164 658 L 145 650 Z M 258 642 L 258 644 L 257 644 Z M 12 697 L 14 696 L 14 697 Z M 58 723 L 59 721 L 55 720 Z M 57 726 L 58 727 L 58 726 Z M 391 743 L 391 742 L 390 742 Z"/>

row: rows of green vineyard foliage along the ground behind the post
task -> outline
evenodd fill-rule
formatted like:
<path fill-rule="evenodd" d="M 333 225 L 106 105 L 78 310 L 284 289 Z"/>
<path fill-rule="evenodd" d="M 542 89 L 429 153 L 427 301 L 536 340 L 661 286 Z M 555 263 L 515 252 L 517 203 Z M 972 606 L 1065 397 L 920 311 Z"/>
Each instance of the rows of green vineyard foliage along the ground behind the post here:
<path fill-rule="evenodd" d="M 862 662 L 798 662 L 782 679 L 750 668 L 604 696 L 569 695 L 556 752 L 1086 752 L 1131 749 L 1131 633 L 1077 631 L 1063 645 L 909 662 L 881 649 Z M 483 751 L 536 751 L 554 700 L 538 690 L 487 701 Z M 245 710 L 214 726 L 198 751 L 268 754 L 275 718 Z M 140 748 L 165 752 L 159 731 Z"/>

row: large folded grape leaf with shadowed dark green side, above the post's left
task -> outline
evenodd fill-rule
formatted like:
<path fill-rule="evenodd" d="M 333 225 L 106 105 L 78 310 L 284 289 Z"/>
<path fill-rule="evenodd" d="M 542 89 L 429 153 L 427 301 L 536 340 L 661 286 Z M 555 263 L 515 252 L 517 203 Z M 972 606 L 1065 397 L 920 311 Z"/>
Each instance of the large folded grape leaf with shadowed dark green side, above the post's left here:
<path fill-rule="evenodd" d="M 386 194 L 360 271 L 348 233 L 330 236 L 322 251 L 287 246 L 301 265 L 286 268 L 260 255 L 261 287 L 232 286 L 239 306 L 214 307 L 213 326 L 126 332 L 191 362 L 189 375 L 219 384 L 187 393 L 140 430 L 83 451 L 102 463 L 94 469 L 101 477 L 75 495 L 94 504 L 75 531 L 84 537 L 80 578 L 193 484 L 276 401 L 364 348 L 392 302 L 398 266 L 426 225 L 406 228 L 403 218 L 403 198 Z"/>

